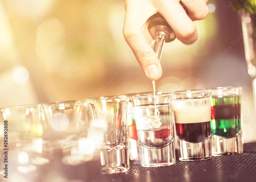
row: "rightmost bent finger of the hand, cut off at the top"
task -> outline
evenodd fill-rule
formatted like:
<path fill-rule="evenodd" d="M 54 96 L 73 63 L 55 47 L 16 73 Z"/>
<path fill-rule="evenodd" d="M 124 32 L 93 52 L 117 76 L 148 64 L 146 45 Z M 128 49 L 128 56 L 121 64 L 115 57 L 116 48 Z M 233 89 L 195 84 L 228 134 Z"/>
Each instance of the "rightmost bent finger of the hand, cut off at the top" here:
<path fill-rule="evenodd" d="M 206 0 L 182 0 L 192 21 L 202 20 L 208 15 Z"/>

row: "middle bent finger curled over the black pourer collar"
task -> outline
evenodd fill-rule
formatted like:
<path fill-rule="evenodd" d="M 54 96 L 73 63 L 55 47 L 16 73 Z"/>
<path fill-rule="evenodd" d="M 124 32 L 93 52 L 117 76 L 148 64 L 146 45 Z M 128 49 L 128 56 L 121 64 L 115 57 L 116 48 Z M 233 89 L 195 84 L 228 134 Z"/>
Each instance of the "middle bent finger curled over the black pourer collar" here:
<path fill-rule="evenodd" d="M 197 40 L 196 26 L 178 1 L 162 0 L 156 6 L 181 42 L 193 44 Z"/>

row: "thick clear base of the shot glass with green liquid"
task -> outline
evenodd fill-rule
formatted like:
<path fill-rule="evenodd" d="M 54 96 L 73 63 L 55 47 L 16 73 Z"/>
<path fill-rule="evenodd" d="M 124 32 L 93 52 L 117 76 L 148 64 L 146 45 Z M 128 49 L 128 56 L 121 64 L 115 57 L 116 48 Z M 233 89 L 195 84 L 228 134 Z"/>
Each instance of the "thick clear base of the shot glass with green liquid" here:
<path fill-rule="evenodd" d="M 236 155 L 243 152 L 243 138 L 240 132 L 236 137 L 225 138 L 212 135 L 212 155 Z"/>

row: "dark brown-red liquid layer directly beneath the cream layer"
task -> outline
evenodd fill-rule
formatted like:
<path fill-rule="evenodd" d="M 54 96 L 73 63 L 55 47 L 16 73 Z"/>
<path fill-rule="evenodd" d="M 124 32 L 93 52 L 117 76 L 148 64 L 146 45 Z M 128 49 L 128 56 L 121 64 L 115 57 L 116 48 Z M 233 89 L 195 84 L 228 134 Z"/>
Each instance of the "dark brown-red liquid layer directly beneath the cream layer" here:
<path fill-rule="evenodd" d="M 202 142 L 210 136 L 210 121 L 203 123 L 176 123 L 177 136 L 186 142 Z"/>

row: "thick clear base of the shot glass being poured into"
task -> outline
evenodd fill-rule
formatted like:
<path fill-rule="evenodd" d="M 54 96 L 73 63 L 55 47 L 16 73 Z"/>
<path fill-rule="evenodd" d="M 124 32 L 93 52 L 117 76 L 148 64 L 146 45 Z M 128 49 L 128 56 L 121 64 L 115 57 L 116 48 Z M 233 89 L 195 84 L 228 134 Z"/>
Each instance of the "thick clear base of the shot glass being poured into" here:
<path fill-rule="evenodd" d="M 174 145 L 174 141 L 172 141 L 165 147 L 154 149 L 139 144 L 141 165 L 143 167 L 161 167 L 175 164 Z"/>

